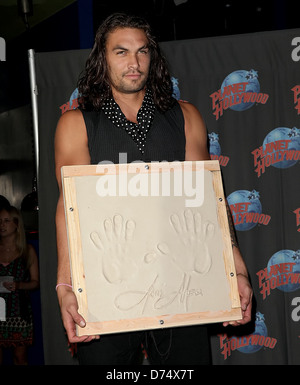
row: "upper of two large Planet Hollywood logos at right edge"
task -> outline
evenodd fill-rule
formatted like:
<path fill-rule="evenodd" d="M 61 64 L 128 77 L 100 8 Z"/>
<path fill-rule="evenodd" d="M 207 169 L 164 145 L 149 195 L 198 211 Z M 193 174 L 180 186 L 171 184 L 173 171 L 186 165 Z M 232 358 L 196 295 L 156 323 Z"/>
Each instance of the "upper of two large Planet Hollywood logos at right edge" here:
<path fill-rule="evenodd" d="M 262 146 L 253 150 L 254 167 L 257 176 L 266 168 L 288 168 L 300 159 L 300 130 L 296 127 L 277 127 L 265 137 Z"/>

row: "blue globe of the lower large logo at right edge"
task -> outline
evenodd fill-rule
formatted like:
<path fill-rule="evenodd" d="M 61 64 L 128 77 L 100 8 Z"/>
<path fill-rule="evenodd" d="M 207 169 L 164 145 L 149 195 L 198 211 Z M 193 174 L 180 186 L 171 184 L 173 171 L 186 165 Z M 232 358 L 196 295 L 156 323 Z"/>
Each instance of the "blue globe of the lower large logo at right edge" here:
<path fill-rule="evenodd" d="M 293 263 L 293 270 L 290 272 L 290 274 L 295 274 L 295 283 L 292 283 L 293 277 L 288 279 L 287 277 L 289 272 L 280 273 L 278 272 L 277 275 L 273 275 L 272 277 L 277 277 L 278 282 L 280 285 L 277 285 L 276 288 L 283 291 L 283 292 L 292 292 L 295 290 L 298 290 L 300 288 L 299 283 L 299 274 L 300 273 L 300 250 L 293 251 L 293 250 L 280 250 L 277 251 L 277 253 L 273 254 L 270 258 L 267 269 L 270 273 L 270 267 L 275 265 L 280 265 L 281 263 Z M 272 279 L 272 278 L 270 278 Z M 288 282 L 288 283 L 285 283 Z"/>

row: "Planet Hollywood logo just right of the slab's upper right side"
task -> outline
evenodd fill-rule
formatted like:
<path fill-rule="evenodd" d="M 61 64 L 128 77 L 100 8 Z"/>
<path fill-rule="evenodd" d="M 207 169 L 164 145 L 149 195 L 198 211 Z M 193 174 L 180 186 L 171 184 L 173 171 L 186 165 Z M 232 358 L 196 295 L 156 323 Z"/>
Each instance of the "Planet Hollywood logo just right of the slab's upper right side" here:
<path fill-rule="evenodd" d="M 257 224 L 268 225 L 270 215 L 262 213 L 260 195 L 256 190 L 237 190 L 227 197 L 237 231 L 251 230 Z"/>

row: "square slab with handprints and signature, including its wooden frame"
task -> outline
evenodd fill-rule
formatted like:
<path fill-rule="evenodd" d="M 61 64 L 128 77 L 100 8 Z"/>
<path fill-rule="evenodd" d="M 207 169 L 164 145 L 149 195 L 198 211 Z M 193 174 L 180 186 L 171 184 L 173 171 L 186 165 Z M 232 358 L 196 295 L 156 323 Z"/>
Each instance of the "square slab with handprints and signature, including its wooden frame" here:
<path fill-rule="evenodd" d="M 65 166 L 62 181 L 78 335 L 242 318 L 218 161 Z"/>

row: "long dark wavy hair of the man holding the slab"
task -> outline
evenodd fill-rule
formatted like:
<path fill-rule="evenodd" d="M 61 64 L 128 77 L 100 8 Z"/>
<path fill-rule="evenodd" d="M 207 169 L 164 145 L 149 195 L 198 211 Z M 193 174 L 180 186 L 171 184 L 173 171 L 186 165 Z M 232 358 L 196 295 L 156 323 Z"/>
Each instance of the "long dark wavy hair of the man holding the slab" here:
<path fill-rule="evenodd" d="M 145 32 L 151 54 L 147 88 L 152 91 L 156 108 L 165 112 L 174 104 L 173 87 L 166 59 L 156 42 L 149 23 L 141 17 L 124 13 L 109 16 L 99 27 L 85 70 L 78 81 L 79 107 L 100 110 L 105 99 L 112 97 L 105 49 L 108 34 L 118 28 L 137 28 Z"/>

